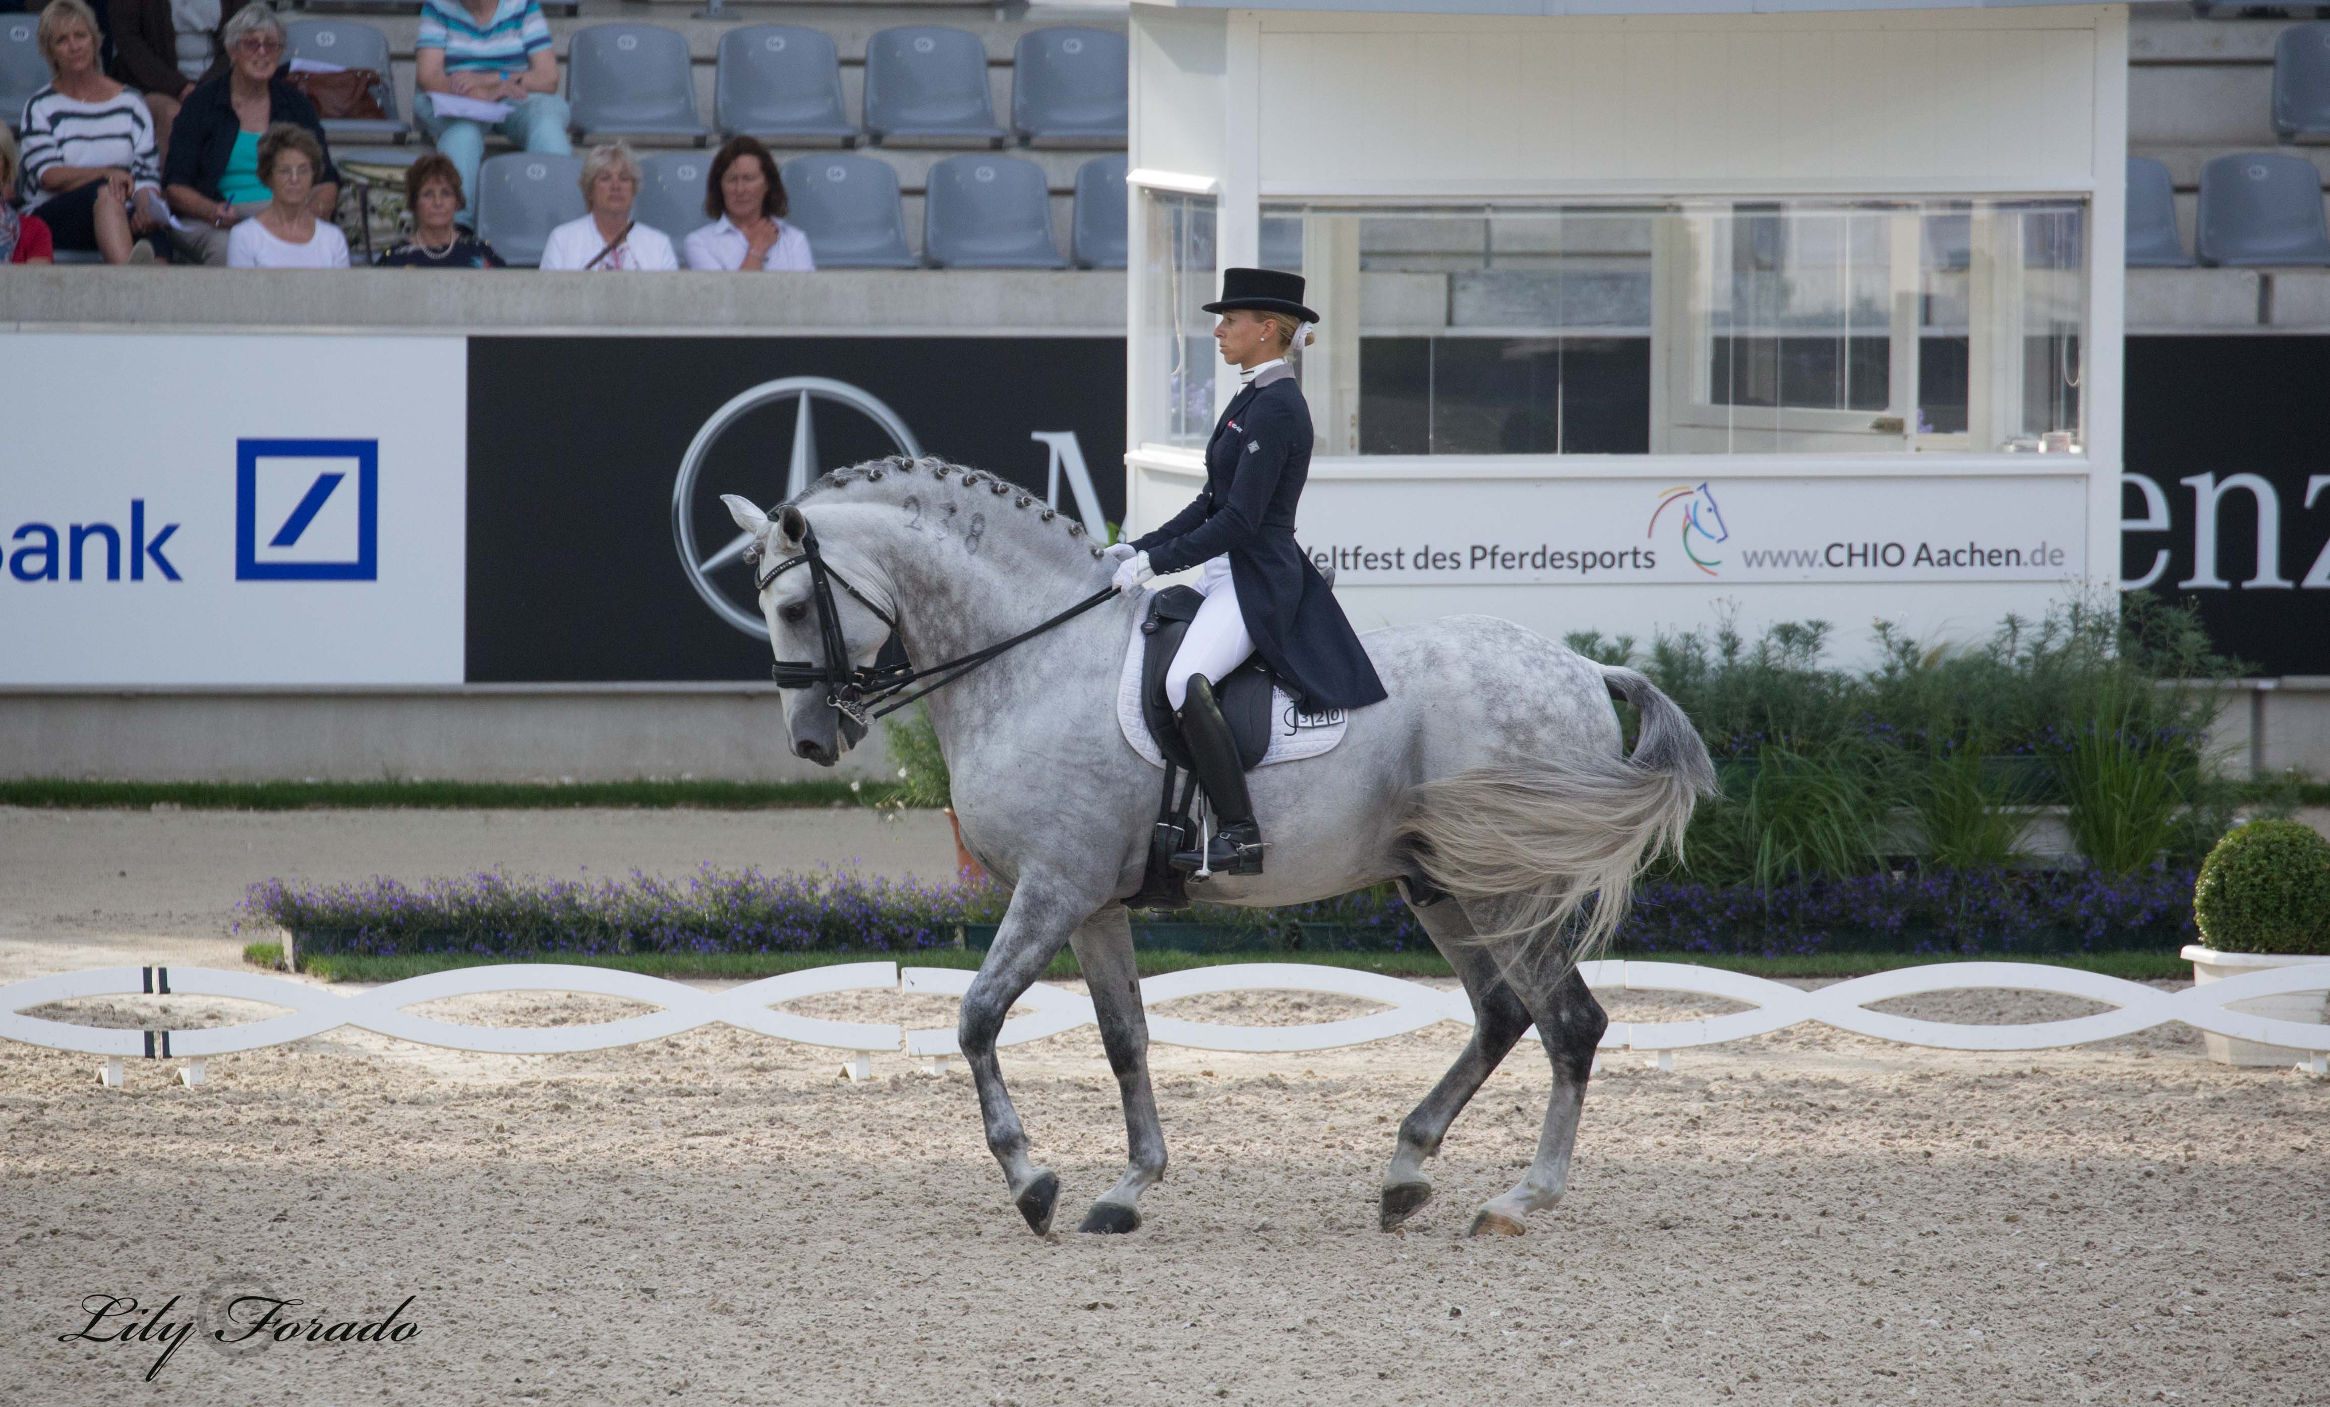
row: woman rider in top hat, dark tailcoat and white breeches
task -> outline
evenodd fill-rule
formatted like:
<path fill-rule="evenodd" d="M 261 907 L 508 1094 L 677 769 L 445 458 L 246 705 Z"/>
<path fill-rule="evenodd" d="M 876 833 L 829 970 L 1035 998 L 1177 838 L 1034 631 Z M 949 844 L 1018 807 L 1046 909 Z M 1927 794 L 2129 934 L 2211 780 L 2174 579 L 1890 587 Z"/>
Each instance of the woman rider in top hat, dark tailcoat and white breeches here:
<path fill-rule="evenodd" d="M 1153 533 L 1109 547 L 1116 585 L 1137 589 L 1156 573 L 1202 568 L 1205 606 L 1165 673 L 1165 697 L 1221 829 L 1174 869 L 1261 874 L 1263 834 L 1247 799 L 1247 773 L 1214 687 L 1254 652 L 1295 694 L 1305 713 L 1358 708 L 1384 699 L 1368 650 L 1342 617 L 1319 568 L 1295 545 L 1295 503 L 1309 478 L 1309 405 L 1288 356 L 1309 340 L 1319 314 L 1302 305 L 1302 275 L 1230 268 L 1221 277 L 1214 340 L 1240 368 L 1244 389 L 1221 412 L 1205 445 L 1205 489 Z"/>

